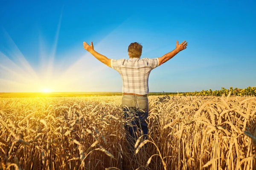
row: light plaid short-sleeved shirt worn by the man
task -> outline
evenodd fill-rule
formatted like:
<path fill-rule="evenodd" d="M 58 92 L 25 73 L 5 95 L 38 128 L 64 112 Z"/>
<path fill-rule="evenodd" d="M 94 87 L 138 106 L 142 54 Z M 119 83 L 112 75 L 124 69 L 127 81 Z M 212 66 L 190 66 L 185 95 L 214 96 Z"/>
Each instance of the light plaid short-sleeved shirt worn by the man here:
<path fill-rule="evenodd" d="M 148 94 L 148 76 L 158 62 L 158 58 L 111 59 L 111 67 L 122 77 L 122 93 Z"/>

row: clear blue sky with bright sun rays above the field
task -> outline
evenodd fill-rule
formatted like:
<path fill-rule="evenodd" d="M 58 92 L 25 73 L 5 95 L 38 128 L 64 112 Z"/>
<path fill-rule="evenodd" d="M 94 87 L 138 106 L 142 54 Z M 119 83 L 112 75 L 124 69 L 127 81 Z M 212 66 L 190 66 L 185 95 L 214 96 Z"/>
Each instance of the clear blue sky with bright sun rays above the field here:
<path fill-rule="evenodd" d="M 0 92 L 122 91 L 118 72 L 83 48 L 128 59 L 162 57 L 176 40 L 188 47 L 151 71 L 149 91 L 185 92 L 256 85 L 254 0 L 0 0 Z"/>

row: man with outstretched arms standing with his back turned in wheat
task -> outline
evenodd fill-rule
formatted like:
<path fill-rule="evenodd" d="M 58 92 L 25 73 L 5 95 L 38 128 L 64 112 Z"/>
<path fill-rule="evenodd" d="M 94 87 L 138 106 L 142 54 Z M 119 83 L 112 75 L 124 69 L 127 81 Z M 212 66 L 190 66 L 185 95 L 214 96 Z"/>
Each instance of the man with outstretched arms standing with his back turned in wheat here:
<path fill-rule="evenodd" d="M 143 58 L 142 45 L 133 42 L 128 46 L 128 55 L 130 59 L 108 59 L 102 54 L 96 52 L 93 48 L 93 42 L 88 45 L 84 42 L 84 49 L 89 51 L 96 59 L 103 62 L 105 65 L 115 69 L 122 77 L 122 105 L 125 111 L 125 118 L 132 119 L 132 124 L 135 126 L 125 126 L 129 132 L 129 142 L 134 142 L 137 138 L 136 127 L 143 131 L 143 134 L 148 134 L 148 125 L 146 119 L 148 117 L 148 76 L 152 69 L 167 62 L 174 57 L 178 52 L 186 49 L 187 42 L 181 44 L 176 42 L 176 48 L 163 55 L 160 58 Z M 135 119 L 134 119 L 135 117 Z M 136 119 L 137 118 L 137 119 Z"/>

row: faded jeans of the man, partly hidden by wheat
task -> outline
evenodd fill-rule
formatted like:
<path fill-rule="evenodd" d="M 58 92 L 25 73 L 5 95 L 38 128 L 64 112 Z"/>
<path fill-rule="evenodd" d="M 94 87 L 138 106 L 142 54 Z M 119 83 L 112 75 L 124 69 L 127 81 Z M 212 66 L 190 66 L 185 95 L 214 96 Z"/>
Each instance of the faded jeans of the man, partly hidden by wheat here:
<path fill-rule="evenodd" d="M 143 134 L 148 134 L 148 124 L 146 122 L 148 118 L 148 97 L 123 95 L 122 108 L 125 119 L 131 122 L 131 125 L 125 125 L 126 137 L 129 142 L 134 143 L 138 138 L 137 127 Z M 144 139 L 146 138 L 147 136 Z"/>

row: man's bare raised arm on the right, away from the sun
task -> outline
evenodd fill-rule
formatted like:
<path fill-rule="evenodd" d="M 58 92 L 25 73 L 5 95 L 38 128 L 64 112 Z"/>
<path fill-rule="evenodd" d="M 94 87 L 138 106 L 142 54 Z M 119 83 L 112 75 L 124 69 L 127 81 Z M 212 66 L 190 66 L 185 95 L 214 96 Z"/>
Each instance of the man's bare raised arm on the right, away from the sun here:
<path fill-rule="evenodd" d="M 177 41 L 176 48 L 173 51 L 163 55 L 163 57 L 158 58 L 159 65 L 165 63 L 166 61 L 174 57 L 176 54 L 178 54 L 178 52 L 186 49 L 187 45 L 188 43 L 186 41 L 183 41 L 181 44 L 179 44 L 179 42 Z"/>

